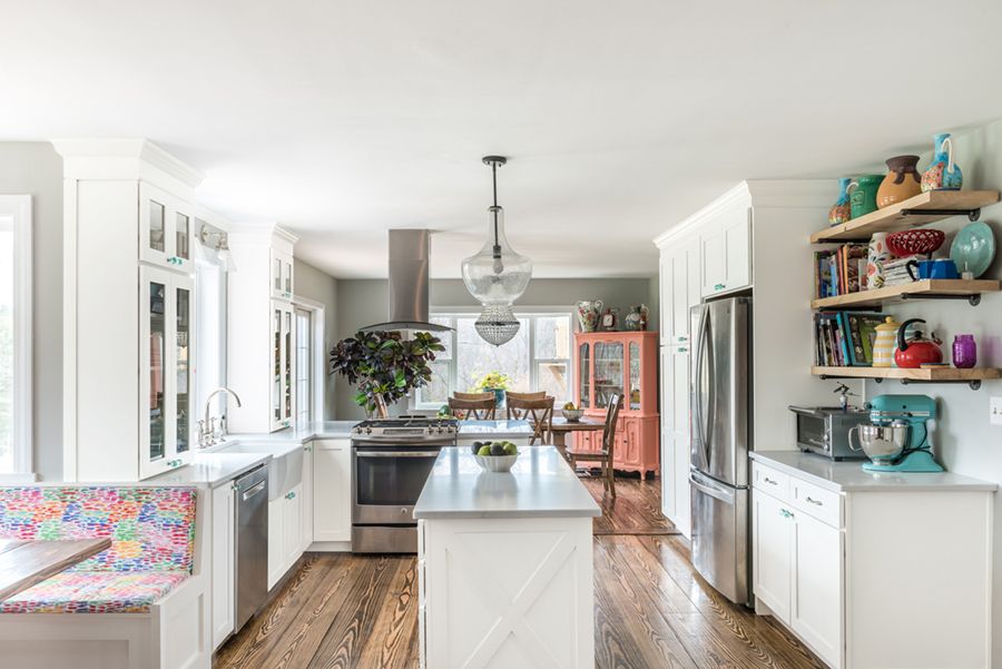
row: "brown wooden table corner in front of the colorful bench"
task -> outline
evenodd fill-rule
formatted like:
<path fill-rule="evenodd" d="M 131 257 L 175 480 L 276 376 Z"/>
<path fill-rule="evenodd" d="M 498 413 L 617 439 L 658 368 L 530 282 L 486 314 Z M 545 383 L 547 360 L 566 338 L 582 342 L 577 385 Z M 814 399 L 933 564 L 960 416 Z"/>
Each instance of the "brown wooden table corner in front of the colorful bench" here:
<path fill-rule="evenodd" d="M 111 539 L 0 539 L 0 601 L 111 548 Z"/>

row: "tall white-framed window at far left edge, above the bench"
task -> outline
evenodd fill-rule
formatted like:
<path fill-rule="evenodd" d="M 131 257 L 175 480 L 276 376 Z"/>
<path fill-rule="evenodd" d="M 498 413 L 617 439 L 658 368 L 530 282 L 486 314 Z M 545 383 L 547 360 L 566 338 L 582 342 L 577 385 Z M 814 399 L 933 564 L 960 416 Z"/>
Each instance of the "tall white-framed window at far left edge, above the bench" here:
<path fill-rule="evenodd" d="M 31 474 L 31 196 L 0 195 L 0 478 Z"/>

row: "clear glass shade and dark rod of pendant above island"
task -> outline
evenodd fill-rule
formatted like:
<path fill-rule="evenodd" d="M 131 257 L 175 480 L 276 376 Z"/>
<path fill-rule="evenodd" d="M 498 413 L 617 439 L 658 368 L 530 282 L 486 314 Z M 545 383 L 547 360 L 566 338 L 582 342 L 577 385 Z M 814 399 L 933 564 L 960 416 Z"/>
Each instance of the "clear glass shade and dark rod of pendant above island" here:
<path fill-rule="evenodd" d="M 488 240 L 480 253 L 463 260 L 463 283 L 483 305 L 511 305 L 532 278 L 532 260 L 515 253 L 504 237 L 504 209 L 498 206 L 498 167 L 505 163 L 502 156 L 483 158 L 483 164 L 491 166 L 494 185 L 494 204 L 488 207 Z"/>

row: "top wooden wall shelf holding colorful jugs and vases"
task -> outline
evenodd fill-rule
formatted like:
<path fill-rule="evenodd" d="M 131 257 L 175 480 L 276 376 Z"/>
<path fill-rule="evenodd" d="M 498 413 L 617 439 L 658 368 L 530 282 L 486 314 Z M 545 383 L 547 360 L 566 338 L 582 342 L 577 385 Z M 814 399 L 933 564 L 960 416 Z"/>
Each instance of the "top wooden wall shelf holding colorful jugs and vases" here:
<path fill-rule="evenodd" d="M 812 244 L 825 242 L 863 242 L 874 233 L 905 230 L 951 216 L 976 211 L 999 201 L 998 190 L 930 190 L 877 209 L 848 223 L 833 225 L 811 235 Z M 923 210 L 930 210 L 923 214 Z M 972 220 L 976 220 L 975 215 Z"/>

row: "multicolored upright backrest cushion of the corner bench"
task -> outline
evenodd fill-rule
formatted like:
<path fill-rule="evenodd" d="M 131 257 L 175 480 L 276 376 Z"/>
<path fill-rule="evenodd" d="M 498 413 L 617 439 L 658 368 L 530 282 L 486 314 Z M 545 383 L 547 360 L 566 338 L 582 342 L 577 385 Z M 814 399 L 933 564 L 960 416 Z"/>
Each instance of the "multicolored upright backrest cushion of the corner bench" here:
<path fill-rule="evenodd" d="M 110 537 L 70 571 L 190 573 L 195 498 L 191 488 L 0 488 L 0 539 Z"/>

